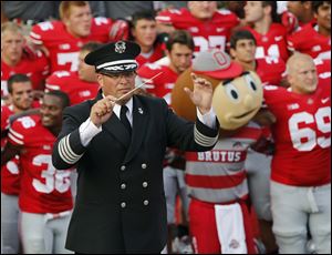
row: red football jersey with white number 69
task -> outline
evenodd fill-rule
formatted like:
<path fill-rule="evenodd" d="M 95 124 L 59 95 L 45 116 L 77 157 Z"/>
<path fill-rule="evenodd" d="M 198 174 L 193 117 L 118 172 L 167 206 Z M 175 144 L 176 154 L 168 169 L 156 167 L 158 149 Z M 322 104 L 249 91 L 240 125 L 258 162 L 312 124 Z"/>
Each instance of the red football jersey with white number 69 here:
<path fill-rule="evenodd" d="M 319 84 L 312 94 L 263 86 L 264 101 L 276 115 L 271 126 L 276 153 L 271 178 L 294 186 L 331 182 L 331 85 Z"/>

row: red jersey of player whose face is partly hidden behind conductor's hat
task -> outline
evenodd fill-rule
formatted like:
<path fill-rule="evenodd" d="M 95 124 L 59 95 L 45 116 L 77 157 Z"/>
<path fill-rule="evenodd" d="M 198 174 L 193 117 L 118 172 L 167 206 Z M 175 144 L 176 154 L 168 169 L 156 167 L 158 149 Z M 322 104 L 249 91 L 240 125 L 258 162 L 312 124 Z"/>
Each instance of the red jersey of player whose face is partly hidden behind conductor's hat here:
<path fill-rule="evenodd" d="M 46 79 L 45 91 L 61 90 L 65 92 L 71 105 L 94 99 L 98 83 L 82 81 L 77 72 L 56 71 Z"/>

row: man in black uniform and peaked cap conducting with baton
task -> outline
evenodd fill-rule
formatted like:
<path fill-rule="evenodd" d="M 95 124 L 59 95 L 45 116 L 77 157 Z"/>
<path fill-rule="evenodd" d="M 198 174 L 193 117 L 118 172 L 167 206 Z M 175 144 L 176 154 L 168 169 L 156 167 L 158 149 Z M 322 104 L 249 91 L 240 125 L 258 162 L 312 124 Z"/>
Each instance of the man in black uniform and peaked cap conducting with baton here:
<path fill-rule="evenodd" d="M 95 100 L 70 106 L 53 149 L 53 165 L 76 167 L 77 194 L 66 248 L 75 253 L 160 253 L 167 217 L 163 160 L 167 146 L 208 151 L 218 139 L 212 86 L 193 74 L 196 123 L 163 99 L 132 93 L 138 44 L 108 43 L 85 57 L 96 69 Z M 163 75 L 163 74 L 162 74 Z"/>

